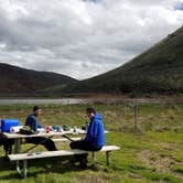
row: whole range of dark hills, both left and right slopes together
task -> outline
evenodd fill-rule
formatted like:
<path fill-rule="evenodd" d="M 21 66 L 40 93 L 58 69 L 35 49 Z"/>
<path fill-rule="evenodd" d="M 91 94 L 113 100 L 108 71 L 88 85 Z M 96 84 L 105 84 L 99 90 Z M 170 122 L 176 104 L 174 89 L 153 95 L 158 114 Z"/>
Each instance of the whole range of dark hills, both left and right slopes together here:
<path fill-rule="evenodd" d="M 127 64 L 80 82 L 61 74 L 0 63 L 0 96 L 183 94 L 183 26 Z"/>

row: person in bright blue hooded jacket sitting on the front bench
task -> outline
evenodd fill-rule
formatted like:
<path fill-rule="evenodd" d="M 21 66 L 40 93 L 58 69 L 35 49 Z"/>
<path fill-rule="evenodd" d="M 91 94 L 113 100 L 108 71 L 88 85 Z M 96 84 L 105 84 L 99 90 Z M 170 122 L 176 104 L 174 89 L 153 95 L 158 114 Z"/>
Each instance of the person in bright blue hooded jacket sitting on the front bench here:
<path fill-rule="evenodd" d="M 94 108 L 87 108 L 86 115 L 90 119 L 89 127 L 84 140 L 71 142 L 72 149 L 80 149 L 88 151 L 99 151 L 105 144 L 104 123 L 101 116 Z M 80 162 L 80 168 L 87 166 L 87 154 L 76 155 L 76 160 Z"/>

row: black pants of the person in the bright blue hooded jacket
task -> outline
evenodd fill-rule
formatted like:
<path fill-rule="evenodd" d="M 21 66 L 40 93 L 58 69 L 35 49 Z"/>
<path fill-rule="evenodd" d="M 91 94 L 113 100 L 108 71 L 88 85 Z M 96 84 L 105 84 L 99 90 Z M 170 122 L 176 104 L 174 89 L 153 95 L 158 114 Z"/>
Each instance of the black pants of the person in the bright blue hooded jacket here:
<path fill-rule="evenodd" d="M 86 151 L 99 151 L 100 148 L 96 148 L 92 146 L 89 142 L 86 142 L 84 140 L 78 140 L 78 141 L 73 141 L 69 143 L 71 149 L 80 149 L 80 150 L 86 150 Z M 76 161 L 79 162 L 87 162 L 87 153 L 86 154 L 77 154 L 75 155 Z"/>

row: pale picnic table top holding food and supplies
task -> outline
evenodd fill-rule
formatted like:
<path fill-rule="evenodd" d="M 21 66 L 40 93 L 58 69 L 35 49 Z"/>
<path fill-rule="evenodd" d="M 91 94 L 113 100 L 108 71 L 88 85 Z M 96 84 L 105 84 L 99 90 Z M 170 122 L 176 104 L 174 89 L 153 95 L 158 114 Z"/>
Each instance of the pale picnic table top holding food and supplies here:
<path fill-rule="evenodd" d="M 63 136 L 63 134 L 85 134 L 86 131 L 82 129 L 77 129 L 76 132 L 74 132 L 73 129 L 68 131 L 50 131 L 46 132 L 37 132 L 36 134 L 21 134 L 21 133 L 12 133 L 12 132 L 2 132 L 2 134 L 8 139 L 20 139 L 20 138 L 32 138 L 32 137 L 51 137 L 51 136 Z"/>

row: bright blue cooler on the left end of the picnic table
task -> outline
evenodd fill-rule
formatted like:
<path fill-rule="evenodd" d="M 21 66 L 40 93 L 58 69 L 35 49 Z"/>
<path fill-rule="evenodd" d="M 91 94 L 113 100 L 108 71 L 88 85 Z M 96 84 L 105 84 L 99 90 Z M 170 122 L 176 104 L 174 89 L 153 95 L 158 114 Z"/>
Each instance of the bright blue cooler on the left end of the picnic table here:
<path fill-rule="evenodd" d="M 10 132 L 10 128 L 15 126 L 19 126 L 18 119 L 1 119 L 1 132 Z"/>

